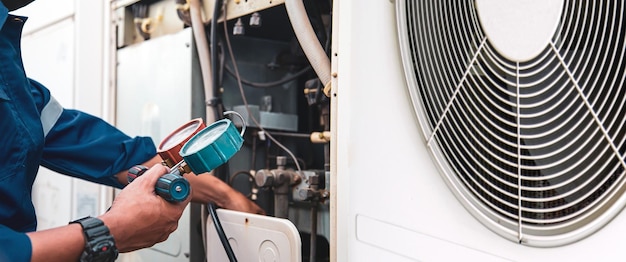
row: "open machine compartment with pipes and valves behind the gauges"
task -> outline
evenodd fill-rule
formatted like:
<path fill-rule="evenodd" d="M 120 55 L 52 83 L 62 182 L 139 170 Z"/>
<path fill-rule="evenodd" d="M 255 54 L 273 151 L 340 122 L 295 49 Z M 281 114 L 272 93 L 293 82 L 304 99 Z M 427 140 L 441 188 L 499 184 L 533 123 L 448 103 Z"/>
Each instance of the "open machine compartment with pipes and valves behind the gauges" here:
<path fill-rule="evenodd" d="M 212 71 L 203 72 L 189 5 L 113 1 L 116 125 L 130 135 L 150 135 L 158 143 L 185 121 L 207 118 L 206 112 L 239 112 L 248 125 L 244 145 L 214 175 L 249 196 L 267 215 L 292 221 L 302 239 L 303 261 L 311 259 L 310 249 L 316 250 L 312 259 L 328 261 L 329 101 L 297 43 L 282 3 L 228 1 L 225 29 L 223 23 L 211 26 L 215 3 L 202 2 L 210 48 L 204 51 L 212 52 Z M 307 7 L 328 50 L 330 2 L 307 1 Z M 228 43 L 243 82 L 245 102 Z M 211 50 L 214 47 L 217 50 Z M 213 99 L 207 98 L 210 94 L 203 84 L 203 73 L 211 73 Z M 232 120 L 241 124 L 237 118 Z M 313 132 L 315 143 L 311 141 Z M 202 221 L 206 212 L 193 204 L 184 216 L 179 230 L 166 242 L 122 259 L 204 261 Z M 312 236 L 311 231 L 316 233 Z M 189 238 L 184 237 L 187 234 Z M 316 244 L 310 245 L 311 241 Z"/>

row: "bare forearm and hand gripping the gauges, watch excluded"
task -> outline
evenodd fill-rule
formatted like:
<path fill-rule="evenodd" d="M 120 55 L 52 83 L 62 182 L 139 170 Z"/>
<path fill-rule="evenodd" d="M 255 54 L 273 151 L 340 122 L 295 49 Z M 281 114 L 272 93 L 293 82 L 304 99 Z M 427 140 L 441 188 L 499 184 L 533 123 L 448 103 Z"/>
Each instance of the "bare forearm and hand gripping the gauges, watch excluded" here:
<path fill-rule="evenodd" d="M 156 181 L 166 172 L 164 166 L 155 165 L 124 188 L 111 209 L 99 216 L 120 252 L 150 247 L 166 240 L 176 230 L 178 219 L 190 199 L 172 204 L 156 195 Z M 78 224 L 27 235 L 32 244 L 31 261 L 77 261 L 85 245 Z"/>

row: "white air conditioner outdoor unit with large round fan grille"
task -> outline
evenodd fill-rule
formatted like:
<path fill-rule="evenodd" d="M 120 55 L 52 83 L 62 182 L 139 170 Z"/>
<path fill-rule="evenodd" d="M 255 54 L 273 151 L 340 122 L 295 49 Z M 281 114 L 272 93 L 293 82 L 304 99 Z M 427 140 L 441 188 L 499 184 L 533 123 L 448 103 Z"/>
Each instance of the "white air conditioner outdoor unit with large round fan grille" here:
<path fill-rule="evenodd" d="M 623 1 L 335 1 L 336 261 L 621 260 Z"/>

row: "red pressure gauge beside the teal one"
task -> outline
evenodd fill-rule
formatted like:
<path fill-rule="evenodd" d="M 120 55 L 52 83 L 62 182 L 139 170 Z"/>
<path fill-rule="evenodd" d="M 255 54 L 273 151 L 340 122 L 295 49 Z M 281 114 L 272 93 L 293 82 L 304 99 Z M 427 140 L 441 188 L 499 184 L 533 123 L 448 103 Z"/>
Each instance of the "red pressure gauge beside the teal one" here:
<path fill-rule="evenodd" d="M 173 167 L 179 162 L 183 161 L 183 157 L 180 156 L 180 150 L 200 130 L 204 129 L 206 125 L 201 118 L 192 119 L 189 122 L 183 124 L 174 132 L 170 133 L 167 137 L 161 141 L 157 148 L 157 153 L 163 159 L 163 163 L 168 167 Z M 182 167 L 185 172 L 190 172 L 189 167 L 185 165 Z"/>

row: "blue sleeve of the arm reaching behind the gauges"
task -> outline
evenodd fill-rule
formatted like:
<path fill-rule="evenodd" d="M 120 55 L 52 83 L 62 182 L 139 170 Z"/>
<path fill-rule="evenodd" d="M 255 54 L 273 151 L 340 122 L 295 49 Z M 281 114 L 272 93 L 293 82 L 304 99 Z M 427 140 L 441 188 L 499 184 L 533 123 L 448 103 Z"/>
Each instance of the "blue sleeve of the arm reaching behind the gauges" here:
<path fill-rule="evenodd" d="M 50 91 L 30 80 L 39 110 L 50 101 Z M 104 120 L 63 109 L 45 137 L 41 165 L 76 178 L 122 188 L 115 175 L 156 156 L 149 137 L 131 138 Z"/>

